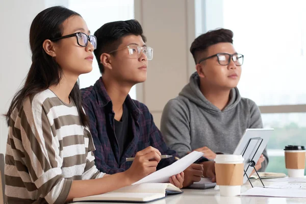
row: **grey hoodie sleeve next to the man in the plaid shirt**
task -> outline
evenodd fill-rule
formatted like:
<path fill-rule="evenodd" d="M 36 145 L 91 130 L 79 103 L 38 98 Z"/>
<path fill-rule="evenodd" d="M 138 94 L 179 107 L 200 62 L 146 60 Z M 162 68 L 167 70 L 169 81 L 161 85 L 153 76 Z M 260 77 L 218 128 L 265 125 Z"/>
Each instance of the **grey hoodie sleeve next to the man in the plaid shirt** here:
<path fill-rule="evenodd" d="M 183 105 L 176 99 L 170 100 L 162 114 L 161 132 L 169 148 L 174 149 L 180 157 L 192 151 L 190 145 L 189 114 Z M 195 163 L 209 161 L 201 157 Z"/>

